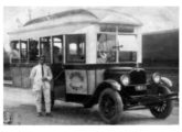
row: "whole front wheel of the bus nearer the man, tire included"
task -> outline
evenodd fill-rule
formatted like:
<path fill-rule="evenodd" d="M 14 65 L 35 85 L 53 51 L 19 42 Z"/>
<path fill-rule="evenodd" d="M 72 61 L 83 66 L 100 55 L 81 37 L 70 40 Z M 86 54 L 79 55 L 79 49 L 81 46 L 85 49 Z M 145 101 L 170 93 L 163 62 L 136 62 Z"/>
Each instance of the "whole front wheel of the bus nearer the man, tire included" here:
<path fill-rule="evenodd" d="M 105 89 L 99 97 L 99 112 L 106 123 L 118 123 L 122 113 L 120 95 L 110 88 Z"/>

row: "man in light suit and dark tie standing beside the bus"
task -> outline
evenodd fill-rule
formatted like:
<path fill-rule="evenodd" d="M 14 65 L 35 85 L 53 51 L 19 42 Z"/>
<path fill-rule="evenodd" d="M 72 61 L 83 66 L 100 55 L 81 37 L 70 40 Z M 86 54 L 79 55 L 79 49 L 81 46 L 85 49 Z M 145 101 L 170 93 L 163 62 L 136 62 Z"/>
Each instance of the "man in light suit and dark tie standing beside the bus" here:
<path fill-rule="evenodd" d="M 38 117 L 42 117 L 42 96 L 45 102 L 45 116 L 52 117 L 51 113 L 51 80 L 52 72 L 51 68 L 44 64 L 45 56 L 40 56 L 39 64 L 31 70 L 30 78 L 32 89 L 35 95 L 35 106 Z"/>

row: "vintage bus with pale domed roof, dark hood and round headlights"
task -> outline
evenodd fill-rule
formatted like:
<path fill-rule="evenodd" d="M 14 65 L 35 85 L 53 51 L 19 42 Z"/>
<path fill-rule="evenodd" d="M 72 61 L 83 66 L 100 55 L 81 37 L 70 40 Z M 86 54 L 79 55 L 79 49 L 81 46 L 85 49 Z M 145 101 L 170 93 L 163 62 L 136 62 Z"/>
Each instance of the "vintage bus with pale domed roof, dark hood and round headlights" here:
<path fill-rule="evenodd" d="M 142 63 L 141 22 L 108 9 L 75 9 L 28 21 L 10 32 L 13 85 L 30 88 L 30 70 L 40 55 L 53 72 L 52 105 L 61 99 L 90 108 L 98 103 L 106 123 L 126 110 L 149 109 L 164 119 L 176 94 L 170 79 Z"/>

